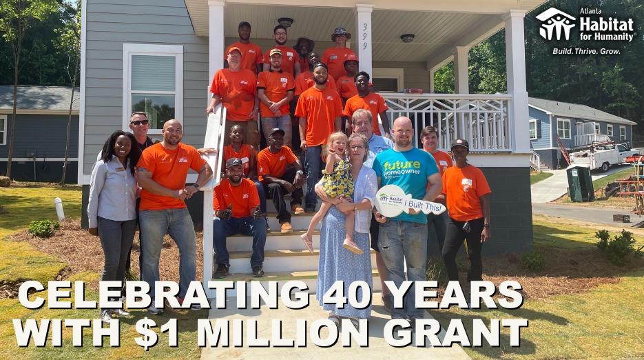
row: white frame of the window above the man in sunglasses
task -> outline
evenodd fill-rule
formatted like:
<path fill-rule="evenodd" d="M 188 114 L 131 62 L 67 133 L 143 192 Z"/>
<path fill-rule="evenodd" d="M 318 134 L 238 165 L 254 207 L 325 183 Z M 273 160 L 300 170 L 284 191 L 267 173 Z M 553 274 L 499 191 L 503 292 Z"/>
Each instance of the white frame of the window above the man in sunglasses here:
<path fill-rule="evenodd" d="M 132 114 L 132 55 L 174 56 L 174 118 L 183 125 L 183 46 L 144 43 L 123 44 L 123 131 L 129 131 Z M 172 94 L 172 91 L 146 91 L 146 94 Z M 150 129 L 148 134 L 160 134 L 161 129 Z"/>

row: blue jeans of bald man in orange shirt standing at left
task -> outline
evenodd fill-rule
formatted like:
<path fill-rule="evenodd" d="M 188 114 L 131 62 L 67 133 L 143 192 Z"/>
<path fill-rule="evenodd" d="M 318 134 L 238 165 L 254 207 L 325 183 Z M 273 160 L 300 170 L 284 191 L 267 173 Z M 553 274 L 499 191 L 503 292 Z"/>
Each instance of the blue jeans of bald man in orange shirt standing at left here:
<path fill-rule="evenodd" d="M 196 239 L 188 209 L 139 210 L 138 217 L 143 234 L 143 281 L 149 283 L 150 297 L 154 300 L 154 281 L 159 280 L 159 257 L 166 233 L 179 248 L 179 297 L 185 297 L 196 274 Z"/>

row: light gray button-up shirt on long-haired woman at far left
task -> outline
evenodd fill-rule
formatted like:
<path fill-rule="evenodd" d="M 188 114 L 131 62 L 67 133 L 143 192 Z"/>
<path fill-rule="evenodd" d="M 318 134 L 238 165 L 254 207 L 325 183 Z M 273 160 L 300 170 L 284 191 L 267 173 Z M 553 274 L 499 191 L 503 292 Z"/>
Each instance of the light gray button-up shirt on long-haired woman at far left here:
<path fill-rule="evenodd" d="M 92 169 L 87 217 L 90 228 L 98 227 L 97 217 L 114 221 L 136 219 L 136 179 L 117 157 L 105 163 L 98 160 Z"/>

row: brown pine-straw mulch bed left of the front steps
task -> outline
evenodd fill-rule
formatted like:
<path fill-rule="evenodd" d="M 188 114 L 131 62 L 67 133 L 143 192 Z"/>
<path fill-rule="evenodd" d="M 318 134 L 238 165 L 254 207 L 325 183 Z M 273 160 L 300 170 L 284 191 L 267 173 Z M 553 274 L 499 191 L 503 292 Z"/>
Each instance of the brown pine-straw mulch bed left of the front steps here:
<path fill-rule="evenodd" d="M 56 230 L 54 236 L 48 239 L 32 237 L 26 230 L 13 234 L 11 239 L 30 243 L 37 250 L 45 252 L 46 254 L 55 255 L 59 259 L 69 263 L 68 274 L 77 274 L 83 271 L 101 273 L 103 271 L 104 258 L 101 241 L 98 240 L 98 237 L 90 235 L 87 230 L 81 229 L 80 221 L 74 220 L 61 223 L 61 228 Z M 202 233 L 198 232 L 196 239 L 197 280 L 201 280 L 202 278 L 202 248 Z M 136 278 L 138 278 L 140 271 L 138 268 L 139 253 L 138 232 L 136 232 L 134 235 L 134 244 L 132 245 L 132 274 Z M 179 281 L 179 249 L 167 235 L 163 238 L 163 250 L 161 250 L 161 259 L 159 261 L 159 275 L 161 280 Z M 98 290 L 98 282 L 88 285 L 90 288 Z"/>

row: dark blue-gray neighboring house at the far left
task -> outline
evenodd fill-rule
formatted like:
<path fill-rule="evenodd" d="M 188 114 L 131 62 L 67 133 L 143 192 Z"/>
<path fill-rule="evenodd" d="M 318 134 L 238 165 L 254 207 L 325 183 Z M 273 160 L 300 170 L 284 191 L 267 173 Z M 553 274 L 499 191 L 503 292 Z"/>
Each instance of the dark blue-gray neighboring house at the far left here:
<path fill-rule="evenodd" d="M 11 177 L 27 181 L 61 181 L 72 88 L 19 86 Z M 79 97 L 74 91 L 70 154 L 65 182 L 78 181 Z M 7 170 L 13 86 L 0 86 L 0 174 Z"/>

